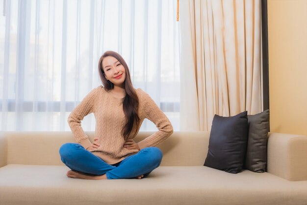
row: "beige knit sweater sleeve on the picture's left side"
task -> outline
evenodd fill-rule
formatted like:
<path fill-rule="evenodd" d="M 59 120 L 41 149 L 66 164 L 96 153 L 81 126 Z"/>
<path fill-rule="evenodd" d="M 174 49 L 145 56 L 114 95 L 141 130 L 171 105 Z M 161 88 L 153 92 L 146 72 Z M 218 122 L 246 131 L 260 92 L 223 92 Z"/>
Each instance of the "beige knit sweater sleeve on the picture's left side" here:
<path fill-rule="evenodd" d="M 94 88 L 92 91 L 90 91 L 68 117 L 68 124 L 76 138 L 77 143 L 86 149 L 91 146 L 92 143 L 89 141 L 88 136 L 84 133 L 81 127 L 81 120 L 83 120 L 83 118 L 88 114 L 94 112 L 94 103 L 97 97 L 97 91 L 98 88 Z"/>

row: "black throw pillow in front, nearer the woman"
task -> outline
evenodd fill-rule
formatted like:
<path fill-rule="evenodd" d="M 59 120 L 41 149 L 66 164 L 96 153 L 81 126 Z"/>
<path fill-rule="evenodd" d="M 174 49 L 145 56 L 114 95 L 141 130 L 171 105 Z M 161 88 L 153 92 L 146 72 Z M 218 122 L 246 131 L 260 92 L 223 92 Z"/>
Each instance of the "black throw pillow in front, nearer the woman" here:
<path fill-rule="evenodd" d="M 204 166 L 232 174 L 241 172 L 248 138 L 247 111 L 233 117 L 215 115 Z"/>

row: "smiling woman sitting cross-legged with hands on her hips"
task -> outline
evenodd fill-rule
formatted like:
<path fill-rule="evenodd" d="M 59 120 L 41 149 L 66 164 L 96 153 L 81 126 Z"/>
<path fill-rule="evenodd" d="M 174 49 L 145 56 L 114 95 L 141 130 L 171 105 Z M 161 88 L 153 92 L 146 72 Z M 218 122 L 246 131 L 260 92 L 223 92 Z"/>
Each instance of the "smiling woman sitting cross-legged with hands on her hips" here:
<path fill-rule="evenodd" d="M 155 147 L 173 133 L 169 119 L 142 89 L 132 86 L 128 65 L 117 53 L 105 52 L 99 60 L 103 87 L 94 88 L 71 112 L 68 123 L 77 143 L 61 146 L 62 162 L 71 169 L 68 177 L 120 179 L 148 176 L 157 168 L 162 152 Z M 91 143 L 81 120 L 94 113 L 96 129 Z M 134 142 L 144 118 L 158 131 Z"/>

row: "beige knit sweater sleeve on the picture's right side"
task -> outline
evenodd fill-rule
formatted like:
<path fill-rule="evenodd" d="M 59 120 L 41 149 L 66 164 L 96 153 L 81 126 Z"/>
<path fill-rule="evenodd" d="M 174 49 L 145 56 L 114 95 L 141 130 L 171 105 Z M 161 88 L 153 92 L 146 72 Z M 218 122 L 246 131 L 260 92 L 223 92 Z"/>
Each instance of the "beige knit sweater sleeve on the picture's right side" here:
<path fill-rule="evenodd" d="M 160 108 L 155 104 L 153 99 L 142 90 L 142 109 L 144 117 L 151 120 L 155 126 L 158 128 L 158 131 L 153 133 L 153 135 L 145 138 L 138 143 L 140 149 L 156 146 L 168 138 L 173 133 L 173 126 L 170 120 L 166 115 L 160 110 Z"/>

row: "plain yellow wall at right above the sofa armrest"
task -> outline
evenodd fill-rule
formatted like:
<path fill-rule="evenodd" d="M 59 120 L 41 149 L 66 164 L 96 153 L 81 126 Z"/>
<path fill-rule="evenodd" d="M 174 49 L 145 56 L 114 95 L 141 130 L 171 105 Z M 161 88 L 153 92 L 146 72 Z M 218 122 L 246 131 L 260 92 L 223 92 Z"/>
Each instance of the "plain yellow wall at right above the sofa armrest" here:
<path fill-rule="evenodd" d="M 307 0 L 268 0 L 271 132 L 307 136 Z"/>

